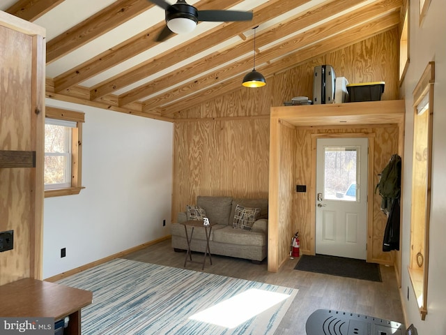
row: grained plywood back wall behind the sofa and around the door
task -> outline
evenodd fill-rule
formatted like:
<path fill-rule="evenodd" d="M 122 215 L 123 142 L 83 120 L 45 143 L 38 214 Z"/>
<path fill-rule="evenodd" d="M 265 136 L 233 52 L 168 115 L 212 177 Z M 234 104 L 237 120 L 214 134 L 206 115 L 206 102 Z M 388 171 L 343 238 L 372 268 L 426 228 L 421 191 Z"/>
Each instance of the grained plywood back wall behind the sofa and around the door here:
<path fill-rule="evenodd" d="M 269 118 L 265 117 L 269 116 L 270 107 L 283 105 L 293 96 L 312 96 L 314 66 L 330 64 L 338 77 L 346 77 L 351 83 L 384 81 L 382 100 L 398 99 L 398 40 L 398 29 L 392 29 L 315 59 L 296 60 L 295 67 L 268 77 L 262 89 L 247 89 L 240 84 L 240 89 L 231 94 L 176 114 L 172 220 L 176 221 L 178 211 L 184 211 L 186 204 L 194 204 L 197 195 L 268 197 Z M 383 162 L 390 157 L 387 155 L 398 149 L 394 147 L 396 142 L 392 142 L 398 139 L 392 127 L 341 131 L 376 132 L 376 171 L 382 170 Z M 330 132 L 330 129 L 300 130 L 295 135 L 290 133 L 291 137 L 284 142 L 286 145 L 295 142 L 296 161 L 298 157 L 311 156 L 309 144 L 314 132 Z M 311 175 L 307 165 L 296 165 L 295 172 L 298 180 L 293 181 L 294 185 L 305 184 Z M 305 193 L 296 193 L 294 213 L 309 212 L 309 200 L 305 197 Z M 375 207 L 374 216 L 379 221 L 383 214 Z M 306 215 L 287 217 L 286 222 L 280 223 L 281 254 L 289 253 L 290 234 L 296 230 L 304 235 L 303 246 L 308 243 L 305 236 L 311 227 Z M 379 223 L 376 228 L 377 244 L 382 243 L 378 239 L 381 226 Z M 277 256 L 283 259 L 283 255 Z M 390 254 L 376 257 L 387 262 Z"/>

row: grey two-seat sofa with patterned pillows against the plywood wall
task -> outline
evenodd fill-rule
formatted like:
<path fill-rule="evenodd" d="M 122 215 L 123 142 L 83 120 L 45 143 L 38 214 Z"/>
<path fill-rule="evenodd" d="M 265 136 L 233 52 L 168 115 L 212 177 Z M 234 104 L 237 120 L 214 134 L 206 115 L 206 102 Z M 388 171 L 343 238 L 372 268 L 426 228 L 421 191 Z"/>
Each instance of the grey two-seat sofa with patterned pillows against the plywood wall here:
<path fill-rule="evenodd" d="M 252 262 L 266 258 L 268 241 L 268 199 L 237 199 L 220 196 L 198 196 L 197 204 L 187 205 L 178 213 L 178 220 L 171 224 L 171 246 L 175 251 L 187 250 L 184 223 L 201 220 L 202 216 L 213 225 L 209 237 L 210 253 Z M 190 236 L 190 230 L 187 228 Z M 204 252 L 206 234 L 194 229 L 190 246 L 192 251 Z"/>

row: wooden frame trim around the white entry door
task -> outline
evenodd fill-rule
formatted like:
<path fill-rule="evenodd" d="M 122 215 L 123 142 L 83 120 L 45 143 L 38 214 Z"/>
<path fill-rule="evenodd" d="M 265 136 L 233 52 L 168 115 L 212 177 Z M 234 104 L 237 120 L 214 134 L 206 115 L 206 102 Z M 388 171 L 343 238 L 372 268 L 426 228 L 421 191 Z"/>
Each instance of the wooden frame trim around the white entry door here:
<path fill-rule="evenodd" d="M 375 147 L 375 133 L 324 133 L 312 134 L 312 177 L 310 187 L 310 222 L 311 225 L 311 239 L 309 252 L 311 255 L 316 255 L 316 162 L 317 162 L 317 140 L 318 138 L 357 138 L 367 137 L 369 140 L 369 152 L 367 158 L 367 262 L 371 262 L 372 255 L 372 237 L 373 237 L 373 213 L 374 213 L 374 147 Z"/>

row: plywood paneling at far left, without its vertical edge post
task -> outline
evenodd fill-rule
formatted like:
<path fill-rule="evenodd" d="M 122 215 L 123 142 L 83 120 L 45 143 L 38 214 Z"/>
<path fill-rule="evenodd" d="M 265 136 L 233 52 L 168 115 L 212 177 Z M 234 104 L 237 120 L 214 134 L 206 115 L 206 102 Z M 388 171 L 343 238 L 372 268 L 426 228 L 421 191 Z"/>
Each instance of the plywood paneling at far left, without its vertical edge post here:
<path fill-rule="evenodd" d="M 20 45 L 5 47 L 1 57 L 0 149 L 31 150 L 31 114 L 22 112 L 31 110 L 31 91 L 22 85 L 31 87 L 32 38 L 0 26 L 0 44 Z M 30 276 L 32 184 L 32 168 L 0 169 L 0 231 L 14 230 L 14 249 L 0 253 L 0 284 Z"/>

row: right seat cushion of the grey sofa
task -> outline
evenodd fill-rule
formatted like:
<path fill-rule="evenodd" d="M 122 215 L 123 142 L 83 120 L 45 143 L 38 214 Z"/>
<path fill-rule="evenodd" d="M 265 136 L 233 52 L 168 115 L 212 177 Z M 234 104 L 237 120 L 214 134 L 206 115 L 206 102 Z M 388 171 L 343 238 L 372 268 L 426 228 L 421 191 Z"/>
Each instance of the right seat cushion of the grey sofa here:
<path fill-rule="evenodd" d="M 233 229 L 230 225 L 222 229 L 213 230 L 213 241 L 224 244 L 238 244 L 242 246 L 266 246 L 266 234 Z M 212 248 L 210 249 L 212 253 Z"/>

